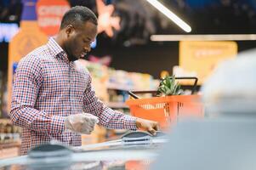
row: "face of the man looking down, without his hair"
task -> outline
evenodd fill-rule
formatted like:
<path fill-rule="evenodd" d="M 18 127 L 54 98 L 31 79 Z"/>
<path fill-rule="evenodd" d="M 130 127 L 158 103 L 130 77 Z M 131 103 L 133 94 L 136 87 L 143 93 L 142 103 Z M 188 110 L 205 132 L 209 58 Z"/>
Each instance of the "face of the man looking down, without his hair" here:
<path fill-rule="evenodd" d="M 83 58 L 91 50 L 90 44 L 97 36 L 97 26 L 87 21 L 80 27 L 68 26 L 65 30 L 65 52 L 70 61 Z"/>

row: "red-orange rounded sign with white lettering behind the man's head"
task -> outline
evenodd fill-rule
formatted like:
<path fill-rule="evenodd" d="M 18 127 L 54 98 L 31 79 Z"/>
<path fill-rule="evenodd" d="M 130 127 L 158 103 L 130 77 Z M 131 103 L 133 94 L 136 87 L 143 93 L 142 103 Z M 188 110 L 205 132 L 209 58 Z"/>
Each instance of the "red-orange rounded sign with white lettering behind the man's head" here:
<path fill-rule="evenodd" d="M 49 37 L 54 36 L 60 29 L 63 15 L 70 9 L 65 0 L 37 2 L 37 22 L 40 29 Z"/>

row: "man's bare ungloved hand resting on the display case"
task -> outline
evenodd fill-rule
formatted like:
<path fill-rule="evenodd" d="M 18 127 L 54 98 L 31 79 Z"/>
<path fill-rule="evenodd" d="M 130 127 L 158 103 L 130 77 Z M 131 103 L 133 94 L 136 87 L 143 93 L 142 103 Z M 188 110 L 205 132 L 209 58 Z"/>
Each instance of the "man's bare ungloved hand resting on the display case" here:
<path fill-rule="evenodd" d="M 158 123 L 141 119 L 141 118 L 136 118 L 136 127 L 141 128 L 153 135 L 156 135 L 156 131 L 158 131 Z"/>

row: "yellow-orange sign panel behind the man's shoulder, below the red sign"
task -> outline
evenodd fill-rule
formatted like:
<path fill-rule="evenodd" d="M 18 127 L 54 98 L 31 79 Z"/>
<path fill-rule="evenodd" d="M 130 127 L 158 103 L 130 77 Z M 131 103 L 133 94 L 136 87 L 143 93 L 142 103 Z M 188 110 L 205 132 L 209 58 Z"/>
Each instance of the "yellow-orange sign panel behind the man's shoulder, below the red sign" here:
<path fill-rule="evenodd" d="M 14 70 L 20 59 L 29 54 L 33 49 L 43 45 L 48 37 L 40 31 L 37 21 L 21 21 L 20 31 L 9 42 L 9 70 L 8 70 L 8 99 L 9 111 Z"/>

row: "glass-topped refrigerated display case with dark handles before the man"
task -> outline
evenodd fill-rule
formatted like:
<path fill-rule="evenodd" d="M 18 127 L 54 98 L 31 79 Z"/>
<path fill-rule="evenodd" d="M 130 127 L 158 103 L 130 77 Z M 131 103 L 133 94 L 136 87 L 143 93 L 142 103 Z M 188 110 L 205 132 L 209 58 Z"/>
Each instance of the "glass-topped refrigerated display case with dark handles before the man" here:
<path fill-rule="evenodd" d="M 43 144 L 18 156 L 0 161 L 2 169 L 146 169 L 156 159 L 157 150 L 168 141 L 165 133 L 156 136 L 129 132 L 121 139 L 105 143 L 67 147 Z"/>

